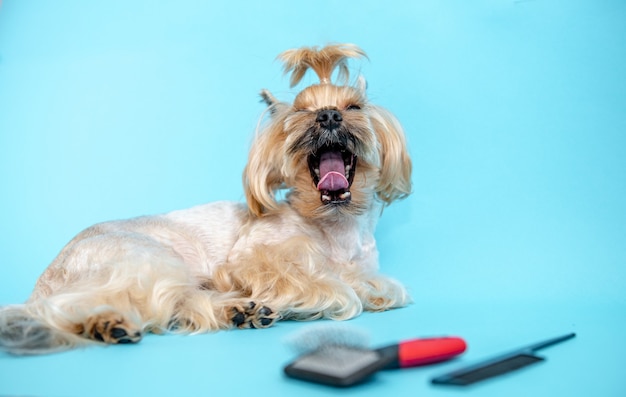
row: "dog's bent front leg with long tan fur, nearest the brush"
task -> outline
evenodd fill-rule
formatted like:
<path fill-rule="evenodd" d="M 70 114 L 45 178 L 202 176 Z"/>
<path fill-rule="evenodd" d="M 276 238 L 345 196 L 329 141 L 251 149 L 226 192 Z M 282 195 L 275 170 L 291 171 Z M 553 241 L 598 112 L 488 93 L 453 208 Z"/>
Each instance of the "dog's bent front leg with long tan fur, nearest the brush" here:
<path fill-rule="evenodd" d="M 218 267 L 211 288 L 238 293 L 283 319 L 346 320 L 359 315 L 361 299 L 349 284 L 324 270 L 325 260 L 306 244 L 298 244 L 297 249 L 293 242 L 259 246 Z"/>

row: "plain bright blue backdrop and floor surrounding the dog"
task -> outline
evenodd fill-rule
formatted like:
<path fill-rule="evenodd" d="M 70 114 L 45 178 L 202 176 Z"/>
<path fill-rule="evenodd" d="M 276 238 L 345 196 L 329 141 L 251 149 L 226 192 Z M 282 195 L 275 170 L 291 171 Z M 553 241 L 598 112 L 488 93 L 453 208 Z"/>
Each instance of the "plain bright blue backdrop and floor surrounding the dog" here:
<path fill-rule="evenodd" d="M 415 303 L 350 324 L 372 345 L 463 336 L 454 362 L 337 391 L 283 378 L 310 324 L 148 336 L 15 358 L 0 395 L 623 396 L 626 2 L 28 1 L 0 8 L 0 304 L 103 220 L 243 200 L 275 56 L 353 42 L 403 123 L 414 194 L 387 208 L 384 273 Z M 312 82 L 312 79 L 308 80 Z M 428 380 L 567 332 L 546 363 L 468 389 Z"/>

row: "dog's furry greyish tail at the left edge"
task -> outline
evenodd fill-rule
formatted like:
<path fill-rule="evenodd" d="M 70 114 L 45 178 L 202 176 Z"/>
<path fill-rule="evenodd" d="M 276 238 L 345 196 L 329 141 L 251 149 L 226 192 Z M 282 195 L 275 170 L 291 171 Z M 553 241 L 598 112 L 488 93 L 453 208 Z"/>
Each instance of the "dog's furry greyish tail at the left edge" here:
<path fill-rule="evenodd" d="M 0 308 L 0 351 L 15 355 L 54 353 L 89 343 L 45 321 L 45 301 Z"/>

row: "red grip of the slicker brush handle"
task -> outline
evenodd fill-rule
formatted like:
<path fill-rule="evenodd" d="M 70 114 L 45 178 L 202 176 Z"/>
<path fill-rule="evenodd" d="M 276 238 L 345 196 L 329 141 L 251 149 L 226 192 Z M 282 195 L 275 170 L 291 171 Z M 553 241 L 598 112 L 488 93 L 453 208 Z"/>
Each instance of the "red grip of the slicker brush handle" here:
<path fill-rule="evenodd" d="M 458 337 L 411 339 L 398 344 L 400 368 L 432 364 L 448 360 L 467 349 L 465 341 Z"/>

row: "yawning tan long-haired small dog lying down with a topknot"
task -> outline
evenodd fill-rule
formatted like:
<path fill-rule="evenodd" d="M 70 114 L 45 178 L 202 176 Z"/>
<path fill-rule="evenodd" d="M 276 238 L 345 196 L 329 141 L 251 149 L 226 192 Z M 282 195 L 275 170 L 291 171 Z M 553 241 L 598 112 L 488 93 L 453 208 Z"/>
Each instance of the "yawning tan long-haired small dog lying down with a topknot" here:
<path fill-rule="evenodd" d="M 89 227 L 26 303 L 0 309 L 0 349 L 42 354 L 148 332 L 346 320 L 410 303 L 401 283 L 378 273 L 374 229 L 386 205 L 410 194 L 411 159 L 397 119 L 367 100 L 362 77 L 349 83 L 348 60 L 366 57 L 353 44 L 280 54 L 291 87 L 309 70 L 319 83 L 292 104 L 261 92 L 246 203 Z"/>

